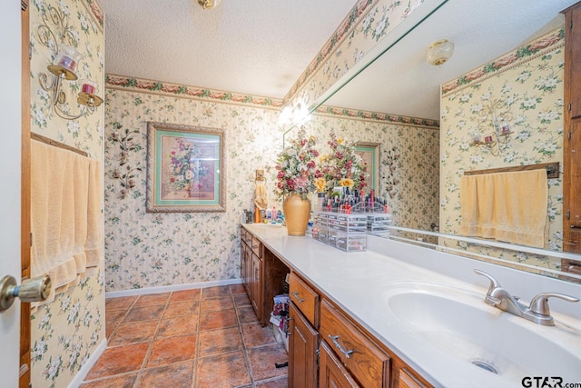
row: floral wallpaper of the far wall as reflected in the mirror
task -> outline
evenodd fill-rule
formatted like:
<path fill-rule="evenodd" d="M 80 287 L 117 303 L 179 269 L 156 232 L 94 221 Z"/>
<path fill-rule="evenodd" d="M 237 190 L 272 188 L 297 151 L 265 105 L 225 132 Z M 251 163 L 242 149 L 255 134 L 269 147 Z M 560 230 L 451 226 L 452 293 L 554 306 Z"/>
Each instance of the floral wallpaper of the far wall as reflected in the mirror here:
<path fill-rule="evenodd" d="M 330 129 L 337 137 L 379 143 L 379 193 L 387 200 L 393 224 L 431 230 L 438 224 L 439 131 L 419 125 L 388 124 L 313 114 L 304 125 L 328 153 Z"/>

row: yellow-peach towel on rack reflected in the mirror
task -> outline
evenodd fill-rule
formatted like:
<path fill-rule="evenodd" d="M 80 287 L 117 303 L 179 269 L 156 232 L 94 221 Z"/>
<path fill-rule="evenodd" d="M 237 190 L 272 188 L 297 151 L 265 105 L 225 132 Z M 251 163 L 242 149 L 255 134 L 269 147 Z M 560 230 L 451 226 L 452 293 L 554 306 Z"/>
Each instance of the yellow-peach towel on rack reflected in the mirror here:
<path fill-rule="evenodd" d="M 460 234 L 547 246 L 547 171 L 464 175 Z"/>

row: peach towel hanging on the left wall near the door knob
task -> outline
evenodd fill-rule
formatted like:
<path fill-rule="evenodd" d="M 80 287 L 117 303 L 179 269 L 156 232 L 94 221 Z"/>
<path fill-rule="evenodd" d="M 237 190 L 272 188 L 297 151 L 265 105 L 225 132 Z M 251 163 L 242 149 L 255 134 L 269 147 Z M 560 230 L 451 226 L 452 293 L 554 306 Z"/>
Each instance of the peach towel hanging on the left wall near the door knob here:
<path fill-rule="evenodd" d="M 35 140 L 31 155 L 31 275 L 51 277 L 48 303 L 100 264 L 101 170 L 97 161 Z"/>

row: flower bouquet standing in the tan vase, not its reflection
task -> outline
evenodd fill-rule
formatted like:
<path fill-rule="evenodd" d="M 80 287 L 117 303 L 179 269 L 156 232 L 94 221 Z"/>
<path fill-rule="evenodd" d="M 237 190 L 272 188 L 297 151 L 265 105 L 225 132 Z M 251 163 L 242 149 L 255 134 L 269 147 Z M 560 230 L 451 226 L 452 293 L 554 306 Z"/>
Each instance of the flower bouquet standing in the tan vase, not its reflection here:
<path fill-rule="evenodd" d="M 319 156 L 315 149 L 317 139 L 307 137 L 304 129 L 300 129 L 297 136 L 278 155 L 275 193 L 279 199 L 291 194 L 300 194 L 306 199 L 310 192 L 315 191 L 315 159 Z"/>

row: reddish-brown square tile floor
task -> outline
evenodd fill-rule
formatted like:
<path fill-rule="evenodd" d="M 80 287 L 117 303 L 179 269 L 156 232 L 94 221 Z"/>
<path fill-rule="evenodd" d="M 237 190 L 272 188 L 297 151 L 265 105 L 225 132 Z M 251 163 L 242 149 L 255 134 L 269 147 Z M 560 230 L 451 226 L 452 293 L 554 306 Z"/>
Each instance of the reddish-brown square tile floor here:
<path fill-rule="evenodd" d="M 286 388 L 288 361 L 241 284 L 110 298 L 107 348 L 81 388 Z"/>

